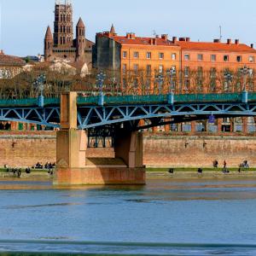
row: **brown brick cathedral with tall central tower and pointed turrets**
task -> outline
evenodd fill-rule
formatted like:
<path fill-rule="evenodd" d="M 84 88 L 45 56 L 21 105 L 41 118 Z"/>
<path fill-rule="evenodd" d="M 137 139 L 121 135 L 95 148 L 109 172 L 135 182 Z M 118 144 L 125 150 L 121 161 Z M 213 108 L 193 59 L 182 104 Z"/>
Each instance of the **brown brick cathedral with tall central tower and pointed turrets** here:
<path fill-rule="evenodd" d="M 54 33 L 48 26 L 44 38 L 45 61 L 80 61 L 90 67 L 93 44 L 85 38 L 85 26 L 81 18 L 76 26 L 76 38 L 73 38 L 72 3 L 70 0 L 56 0 Z"/>

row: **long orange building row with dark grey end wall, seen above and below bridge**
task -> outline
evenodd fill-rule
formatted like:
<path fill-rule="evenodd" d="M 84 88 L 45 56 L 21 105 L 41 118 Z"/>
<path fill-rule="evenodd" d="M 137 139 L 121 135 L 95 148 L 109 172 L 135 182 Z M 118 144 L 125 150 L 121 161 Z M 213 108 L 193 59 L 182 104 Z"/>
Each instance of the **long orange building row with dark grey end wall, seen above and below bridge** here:
<path fill-rule="evenodd" d="M 134 33 L 121 37 L 113 26 L 110 32 L 96 34 L 93 65 L 99 70 L 112 69 L 120 74 L 120 84 L 131 84 L 136 93 L 220 93 L 256 91 L 256 50 L 253 45 L 191 42 L 189 38 L 168 39 L 167 35 L 140 38 Z M 143 76 L 141 75 L 143 73 Z M 159 75 L 162 84 L 160 87 Z M 170 79 L 171 76 L 171 79 Z M 136 86 L 134 86 L 136 85 Z M 156 88 L 156 90 L 155 90 Z M 131 91 L 133 93 L 133 91 Z M 154 128 L 154 131 L 157 128 Z M 216 119 L 166 125 L 160 131 L 256 131 L 253 118 Z"/>

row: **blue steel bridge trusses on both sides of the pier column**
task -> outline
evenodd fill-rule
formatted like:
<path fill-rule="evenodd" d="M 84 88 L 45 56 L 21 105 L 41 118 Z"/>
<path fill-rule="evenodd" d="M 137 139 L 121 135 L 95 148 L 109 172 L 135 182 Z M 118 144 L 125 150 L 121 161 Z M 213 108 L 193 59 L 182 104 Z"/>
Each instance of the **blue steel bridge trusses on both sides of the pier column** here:
<path fill-rule="evenodd" d="M 130 123 L 135 129 L 140 119 L 148 119 L 151 126 L 164 124 L 162 119 L 172 119 L 167 124 L 190 120 L 256 116 L 255 103 L 179 103 L 119 106 L 79 106 L 79 129 L 91 129 L 106 125 Z M 60 107 L 46 108 L 0 108 L 0 121 L 15 121 L 60 127 Z M 144 128 L 144 127 L 141 127 Z M 145 127 L 146 129 L 146 127 Z"/>

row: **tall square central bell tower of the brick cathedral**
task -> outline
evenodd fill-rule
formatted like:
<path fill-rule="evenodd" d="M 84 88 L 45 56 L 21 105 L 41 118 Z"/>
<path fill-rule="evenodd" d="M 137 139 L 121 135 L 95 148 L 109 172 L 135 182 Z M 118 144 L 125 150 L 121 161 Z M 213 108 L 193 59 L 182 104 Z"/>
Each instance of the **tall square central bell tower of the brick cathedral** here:
<path fill-rule="evenodd" d="M 73 7 L 71 1 L 55 1 L 54 22 L 54 45 L 55 47 L 73 46 Z"/>

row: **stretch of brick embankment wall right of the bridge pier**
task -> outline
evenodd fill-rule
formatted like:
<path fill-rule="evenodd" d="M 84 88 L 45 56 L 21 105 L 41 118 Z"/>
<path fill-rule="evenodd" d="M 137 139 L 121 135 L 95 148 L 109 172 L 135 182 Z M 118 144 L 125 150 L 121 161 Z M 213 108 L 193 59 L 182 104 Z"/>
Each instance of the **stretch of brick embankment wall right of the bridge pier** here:
<path fill-rule="evenodd" d="M 256 137 L 148 136 L 144 137 L 147 166 L 238 166 L 248 160 L 256 166 Z"/>

